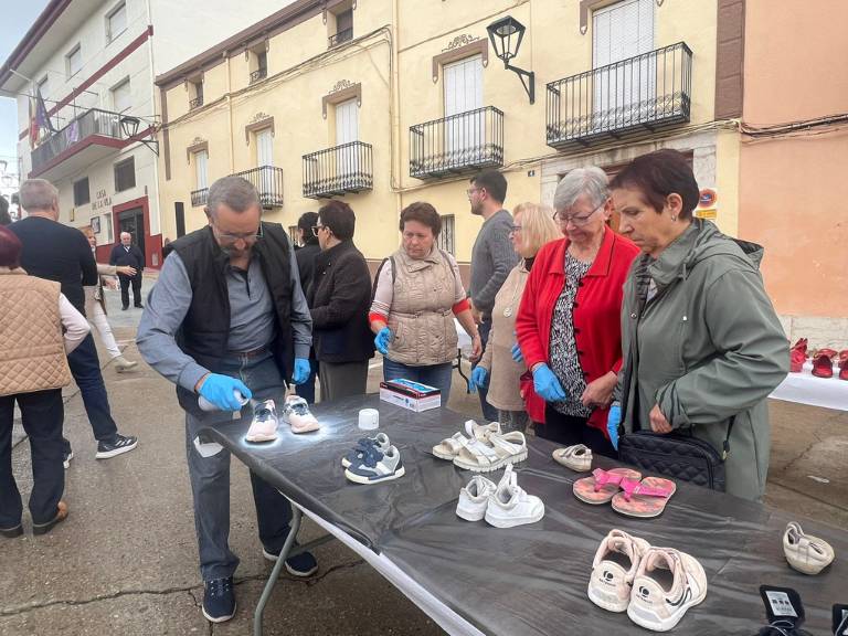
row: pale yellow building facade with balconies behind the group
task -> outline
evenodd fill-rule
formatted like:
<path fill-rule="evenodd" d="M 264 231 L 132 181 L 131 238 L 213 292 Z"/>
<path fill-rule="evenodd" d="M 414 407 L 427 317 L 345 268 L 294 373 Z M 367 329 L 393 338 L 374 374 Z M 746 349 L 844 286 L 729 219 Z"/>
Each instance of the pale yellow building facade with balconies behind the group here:
<path fill-rule="evenodd" d="M 729 3 L 298 0 L 157 78 L 163 234 L 205 224 L 204 189 L 244 173 L 288 227 L 343 198 L 372 261 L 398 246 L 401 209 L 428 201 L 466 264 L 480 169 L 506 174 L 507 208 L 550 203 L 570 169 L 612 174 L 662 147 L 691 157 L 719 193 L 706 215 L 734 234 L 739 136 L 716 103 Z M 506 18 L 513 46 L 522 30 L 509 63 L 534 74 L 533 104 L 487 32 Z"/>

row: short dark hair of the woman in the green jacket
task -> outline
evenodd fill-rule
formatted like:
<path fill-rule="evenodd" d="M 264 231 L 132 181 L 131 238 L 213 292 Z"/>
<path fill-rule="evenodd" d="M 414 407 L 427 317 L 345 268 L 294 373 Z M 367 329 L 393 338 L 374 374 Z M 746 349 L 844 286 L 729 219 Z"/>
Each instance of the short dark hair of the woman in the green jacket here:
<path fill-rule="evenodd" d="M 611 190 L 616 188 L 639 190 L 645 202 L 657 213 L 662 212 L 666 199 L 675 192 L 683 200 L 681 219 L 691 218 L 701 197 L 686 156 L 670 148 L 636 157 L 610 183 Z"/>

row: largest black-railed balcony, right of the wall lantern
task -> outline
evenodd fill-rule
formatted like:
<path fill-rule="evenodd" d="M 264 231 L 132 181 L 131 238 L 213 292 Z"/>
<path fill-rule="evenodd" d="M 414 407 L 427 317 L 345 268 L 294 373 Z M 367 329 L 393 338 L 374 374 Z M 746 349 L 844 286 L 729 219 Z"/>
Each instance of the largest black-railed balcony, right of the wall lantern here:
<path fill-rule="evenodd" d="M 692 51 L 685 42 L 548 84 L 548 146 L 582 148 L 689 121 Z"/>

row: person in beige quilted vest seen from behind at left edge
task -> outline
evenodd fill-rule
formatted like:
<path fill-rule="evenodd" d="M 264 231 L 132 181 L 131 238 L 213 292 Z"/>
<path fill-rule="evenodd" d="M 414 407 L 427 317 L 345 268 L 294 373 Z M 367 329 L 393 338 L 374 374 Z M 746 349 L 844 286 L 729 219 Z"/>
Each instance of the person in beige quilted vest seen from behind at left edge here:
<path fill-rule="evenodd" d="M 88 335 L 88 322 L 59 283 L 28 276 L 21 242 L 0 226 L 0 537 L 23 534 L 23 504 L 12 475 L 14 403 L 30 437 L 33 534 L 67 517 L 62 386 L 71 383 L 67 353 Z M 64 335 L 63 335 L 64 330 Z"/>

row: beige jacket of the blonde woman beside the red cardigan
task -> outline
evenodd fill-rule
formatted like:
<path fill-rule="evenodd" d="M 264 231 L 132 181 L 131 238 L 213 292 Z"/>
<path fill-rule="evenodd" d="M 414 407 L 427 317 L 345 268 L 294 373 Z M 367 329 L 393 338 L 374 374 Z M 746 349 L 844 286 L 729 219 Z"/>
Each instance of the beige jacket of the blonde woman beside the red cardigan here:
<path fill-rule="evenodd" d="M 519 393 L 518 379 L 527 371 L 523 363 L 512 360 L 516 343 L 516 315 L 529 272 L 521 261 L 504 282 L 495 296 L 491 310 L 491 330 L 479 367 L 489 372 L 489 393 L 486 401 L 501 411 L 523 411 L 524 401 Z"/>

